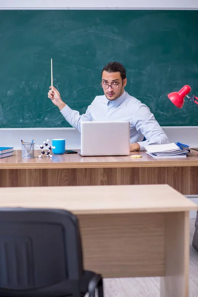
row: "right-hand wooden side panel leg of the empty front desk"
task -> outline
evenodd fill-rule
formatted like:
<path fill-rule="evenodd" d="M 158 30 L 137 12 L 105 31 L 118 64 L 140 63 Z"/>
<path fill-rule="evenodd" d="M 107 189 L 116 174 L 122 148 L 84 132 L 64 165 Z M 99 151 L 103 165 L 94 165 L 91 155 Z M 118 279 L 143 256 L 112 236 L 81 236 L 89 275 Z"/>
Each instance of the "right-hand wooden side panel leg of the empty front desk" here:
<path fill-rule="evenodd" d="M 189 296 L 189 212 L 165 214 L 164 277 L 160 297 Z"/>

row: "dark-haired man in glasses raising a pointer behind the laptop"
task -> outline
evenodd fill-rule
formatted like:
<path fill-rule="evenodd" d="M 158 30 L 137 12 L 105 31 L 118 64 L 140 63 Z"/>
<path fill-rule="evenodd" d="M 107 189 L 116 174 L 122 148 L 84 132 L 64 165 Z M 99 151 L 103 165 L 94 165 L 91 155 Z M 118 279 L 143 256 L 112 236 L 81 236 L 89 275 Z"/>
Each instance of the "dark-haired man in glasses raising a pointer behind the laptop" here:
<path fill-rule="evenodd" d="M 85 114 L 80 115 L 66 105 L 54 87 L 53 92 L 49 90 L 48 97 L 68 123 L 79 131 L 83 121 L 130 121 L 130 151 L 145 150 L 145 146 L 151 144 L 167 144 L 168 138 L 148 106 L 125 92 L 124 66 L 110 62 L 102 69 L 101 76 L 104 95 L 97 96 Z M 144 137 L 146 141 L 143 142 Z"/>

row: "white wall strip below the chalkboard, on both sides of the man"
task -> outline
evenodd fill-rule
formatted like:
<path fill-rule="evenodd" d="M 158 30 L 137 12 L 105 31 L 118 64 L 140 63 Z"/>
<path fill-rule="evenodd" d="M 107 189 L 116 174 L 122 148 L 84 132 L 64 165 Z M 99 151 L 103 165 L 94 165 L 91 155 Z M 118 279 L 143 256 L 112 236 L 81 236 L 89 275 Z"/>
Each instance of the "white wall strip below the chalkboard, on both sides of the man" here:
<path fill-rule="evenodd" d="M 198 148 L 198 127 L 162 127 L 170 142 L 181 142 Z M 67 149 L 80 148 L 80 133 L 74 128 L 0 129 L 0 146 L 21 149 L 21 139 L 40 145 L 47 139 L 64 138 Z"/>

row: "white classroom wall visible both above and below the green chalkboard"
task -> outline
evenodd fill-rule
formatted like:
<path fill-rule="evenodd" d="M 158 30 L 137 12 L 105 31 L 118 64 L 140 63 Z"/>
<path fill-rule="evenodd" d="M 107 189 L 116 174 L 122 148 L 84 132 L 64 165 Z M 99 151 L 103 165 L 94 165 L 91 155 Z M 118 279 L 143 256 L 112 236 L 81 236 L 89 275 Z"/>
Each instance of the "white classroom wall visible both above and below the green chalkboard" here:
<path fill-rule="evenodd" d="M 0 0 L 0 9 L 198 9 L 198 0 Z M 163 127 L 170 142 L 198 147 L 198 127 Z M 44 139 L 45 137 L 45 139 Z M 35 139 L 40 144 L 52 138 L 65 138 L 66 147 L 80 148 L 80 133 L 73 128 L 0 129 L 0 143 L 20 149 L 20 140 Z"/>

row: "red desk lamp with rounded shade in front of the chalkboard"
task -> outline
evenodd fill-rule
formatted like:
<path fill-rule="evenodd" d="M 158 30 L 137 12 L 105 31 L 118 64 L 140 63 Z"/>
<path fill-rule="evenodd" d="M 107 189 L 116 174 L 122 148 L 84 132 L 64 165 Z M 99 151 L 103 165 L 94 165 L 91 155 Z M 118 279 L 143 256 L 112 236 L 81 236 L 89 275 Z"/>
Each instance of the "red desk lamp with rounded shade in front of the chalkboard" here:
<path fill-rule="evenodd" d="M 191 87 L 188 85 L 185 85 L 179 92 L 173 92 L 168 94 L 168 98 L 171 100 L 173 104 L 175 104 L 177 107 L 182 108 L 184 105 L 184 98 L 187 97 L 189 100 L 194 101 L 196 104 L 198 104 L 198 97 L 196 97 L 193 94 L 189 94 L 191 92 Z M 190 96 L 188 96 L 188 94 Z"/>

